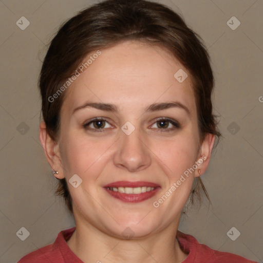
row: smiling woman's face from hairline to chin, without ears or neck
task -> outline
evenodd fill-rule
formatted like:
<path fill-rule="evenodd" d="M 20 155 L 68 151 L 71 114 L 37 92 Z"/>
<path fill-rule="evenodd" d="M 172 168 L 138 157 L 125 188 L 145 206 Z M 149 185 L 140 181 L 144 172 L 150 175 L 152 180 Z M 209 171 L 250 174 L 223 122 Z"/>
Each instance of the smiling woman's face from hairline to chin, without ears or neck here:
<path fill-rule="evenodd" d="M 177 226 L 201 158 L 191 85 L 157 46 L 124 42 L 93 57 L 61 110 L 60 176 L 76 222 L 118 237 Z"/>

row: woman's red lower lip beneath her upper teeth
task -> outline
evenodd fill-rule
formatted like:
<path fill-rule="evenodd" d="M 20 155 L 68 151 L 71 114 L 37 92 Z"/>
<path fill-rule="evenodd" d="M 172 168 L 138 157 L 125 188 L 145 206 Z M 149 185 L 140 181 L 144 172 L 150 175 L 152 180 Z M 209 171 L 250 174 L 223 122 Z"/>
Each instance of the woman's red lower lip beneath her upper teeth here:
<path fill-rule="evenodd" d="M 107 188 L 104 188 L 108 194 L 110 194 L 111 196 L 123 201 L 123 202 L 128 202 L 128 203 L 138 203 L 138 202 L 142 202 L 144 200 L 147 200 L 151 197 L 153 197 L 154 195 L 156 195 L 156 193 L 159 191 L 160 187 L 156 187 L 153 191 L 149 191 L 149 192 L 145 192 L 145 193 L 141 193 L 141 194 L 124 194 L 124 193 L 120 193 L 120 192 L 115 192 L 112 190 L 109 190 Z"/>

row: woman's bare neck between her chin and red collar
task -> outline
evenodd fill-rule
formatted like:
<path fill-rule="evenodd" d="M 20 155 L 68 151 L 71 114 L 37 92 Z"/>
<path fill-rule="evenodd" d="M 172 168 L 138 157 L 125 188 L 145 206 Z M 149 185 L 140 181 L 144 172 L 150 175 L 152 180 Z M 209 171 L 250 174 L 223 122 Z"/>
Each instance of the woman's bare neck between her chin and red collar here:
<path fill-rule="evenodd" d="M 106 234 L 87 222 L 76 221 L 76 231 L 67 244 L 84 263 L 180 263 L 187 254 L 176 239 L 178 223 L 162 232 L 127 240 Z"/>

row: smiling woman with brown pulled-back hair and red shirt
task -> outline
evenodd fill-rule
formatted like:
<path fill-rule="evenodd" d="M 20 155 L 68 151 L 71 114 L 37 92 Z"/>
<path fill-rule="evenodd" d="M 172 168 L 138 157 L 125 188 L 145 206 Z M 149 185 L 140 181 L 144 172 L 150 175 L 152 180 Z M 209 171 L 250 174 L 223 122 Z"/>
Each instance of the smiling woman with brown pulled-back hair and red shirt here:
<path fill-rule="evenodd" d="M 178 231 L 220 137 L 213 85 L 165 6 L 109 0 L 66 22 L 41 71 L 40 140 L 76 228 L 18 262 L 252 262 Z"/>

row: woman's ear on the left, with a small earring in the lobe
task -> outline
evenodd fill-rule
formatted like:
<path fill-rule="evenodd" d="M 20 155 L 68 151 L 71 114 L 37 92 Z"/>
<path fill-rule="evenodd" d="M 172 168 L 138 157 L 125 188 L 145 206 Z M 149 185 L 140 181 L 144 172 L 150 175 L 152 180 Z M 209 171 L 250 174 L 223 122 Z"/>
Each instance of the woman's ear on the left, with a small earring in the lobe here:
<path fill-rule="evenodd" d="M 59 174 L 54 174 L 58 179 L 64 178 L 62 161 L 60 155 L 59 143 L 55 142 L 47 133 L 46 123 L 42 121 L 39 125 L 40 133 L 39 138 L 44 149 L 44 154 L 47 158 L 47 161 L 50 167 L 58 171 Z"/>

